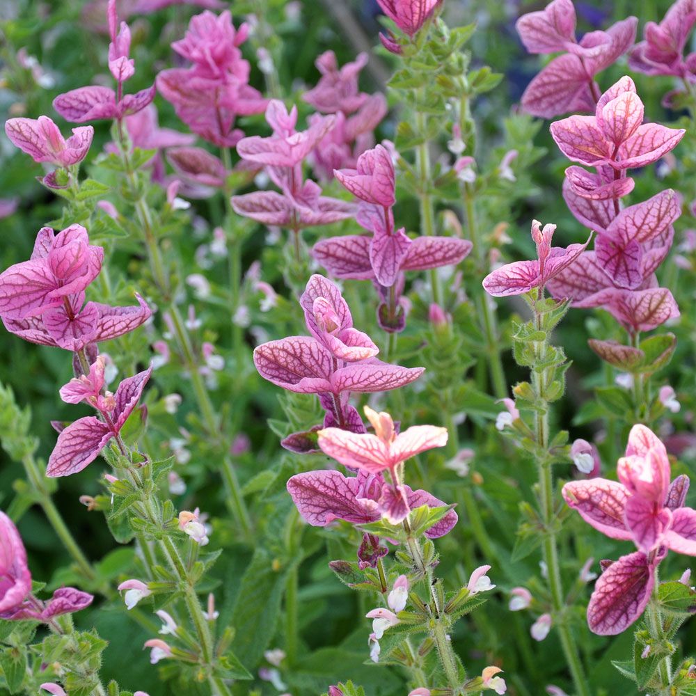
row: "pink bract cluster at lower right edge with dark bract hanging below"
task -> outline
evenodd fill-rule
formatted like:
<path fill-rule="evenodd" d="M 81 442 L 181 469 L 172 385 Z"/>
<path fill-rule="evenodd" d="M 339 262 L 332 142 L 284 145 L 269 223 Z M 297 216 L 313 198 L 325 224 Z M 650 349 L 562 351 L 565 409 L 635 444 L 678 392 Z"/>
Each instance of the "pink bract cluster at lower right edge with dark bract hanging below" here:
<path fill-rule="evenodd" d="M 668 548 L 696 555 L 696 510 L 683 507 L 688 477 L 670 484 L 665 445 L 649 428 L 633 426 L 617 472 L 619 482 L 594 478 L 563 487 L 566 503 L 587 523 L 638 547 L 638 552 L 612 563 L 596 582 L 587 621 L 600 635 L 621 633 L 640 617 Z"/>

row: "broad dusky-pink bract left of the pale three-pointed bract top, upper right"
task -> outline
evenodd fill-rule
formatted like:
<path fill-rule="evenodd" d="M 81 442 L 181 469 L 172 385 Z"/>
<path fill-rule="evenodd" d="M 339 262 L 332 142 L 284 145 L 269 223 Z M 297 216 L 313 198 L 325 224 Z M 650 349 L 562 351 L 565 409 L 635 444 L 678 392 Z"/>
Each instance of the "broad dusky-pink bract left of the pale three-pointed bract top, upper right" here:
<path fill-rule="evenodd" d="M 523 109 L 540 118 L 553 118 L 571 111 L 593 111 L 591 81 L 578 56 L 558 56 L 525 89 Z"/>

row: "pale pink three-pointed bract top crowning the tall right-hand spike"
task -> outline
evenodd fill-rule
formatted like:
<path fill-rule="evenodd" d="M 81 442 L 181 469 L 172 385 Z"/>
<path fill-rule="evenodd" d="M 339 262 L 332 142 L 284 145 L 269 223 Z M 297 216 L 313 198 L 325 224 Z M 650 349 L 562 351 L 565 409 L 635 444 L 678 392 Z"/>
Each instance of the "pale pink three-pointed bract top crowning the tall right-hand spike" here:
<path fill-rule="evenodd" d="M 597 103 L 594 116 L 569 116 L 551 124 L 568 159 L 615 171 L 642 167 L 676 147 L 684 129 L 643 123 L 643 103 L 630 77 L 622 77 Z"/>

